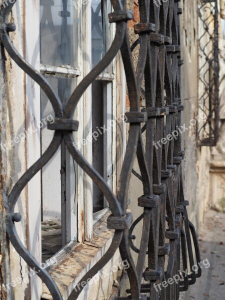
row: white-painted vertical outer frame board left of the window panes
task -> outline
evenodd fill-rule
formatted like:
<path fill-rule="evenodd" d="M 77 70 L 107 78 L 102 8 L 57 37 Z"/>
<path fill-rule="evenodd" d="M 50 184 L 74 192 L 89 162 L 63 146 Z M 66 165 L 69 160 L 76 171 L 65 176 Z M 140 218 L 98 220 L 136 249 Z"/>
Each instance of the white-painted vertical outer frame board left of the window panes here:
<path fill-rule="evenodd" d="M 35 69 L 39 70 L 39 7 L 33 1 L 25 5 L 25 59 Z M 30 26 L 32 23 L 32 26 Z M 35 59 L 33 59 L 35 53 Z M 32 128 L 32 133 L 26 135 L 27 169 L 40 157 L 40 129 L 36 121 L 40 117 L 40 87 L 27 74 L 26 79 L 26 128 Z M 34 192 L 35 191 L 35 192 Z M 38 262 L 41 262 L 41 178 L 38 172 L 27 183 L 28 235 L 29 252 Z M 22 269 L 21 269 L 22 270 Z M 30 298 L 37 300 L 42 292 L 41 280 L 37 275 L 30 276 Z"/>

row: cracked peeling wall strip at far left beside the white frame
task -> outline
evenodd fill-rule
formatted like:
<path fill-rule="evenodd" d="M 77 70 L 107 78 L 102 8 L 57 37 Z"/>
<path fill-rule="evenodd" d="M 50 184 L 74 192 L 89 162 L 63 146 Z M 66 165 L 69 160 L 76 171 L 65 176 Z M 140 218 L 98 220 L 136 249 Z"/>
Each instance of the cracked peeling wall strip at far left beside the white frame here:
<path fill-rule="evenodd" d="M 9 21 L 15 21 L 16 32 L 11 34 L 11 39 L 14 46 L 18 49 L 21 55 L 24 55 L 24 40 L 23 40 L 23 5 L 21 1 L 17 1 L 9 16 Z M 21 139 L 18 143 L 15 143 L 14 147 L 9 146 L 9 141 L 24 131 L 26 126 L 26 113 L 25 113 L 25 75 L 23 71 L 13 62 L 6 51 L 2 53 L 5 56 L 5 74 L 4 85 L 0 84 L 1 100 L 4 101 L 4 111 L 1 111 L 5 118 L 4 127 L 1 126 L 1 163 L 5 160 L 5 176 L 3 178 L 3 192 L 8 194 L 12 189 L 15 182 L 21 177 L 26 170 L 26 145 L 25 139 Z M 0 61 L 0 67 L 4 64 Z M 4 88 L 4 90 L 3 90 Z M 3 103 L 3 102 L 2 102 Z M 5 148 L 5 146 L 7 149 Z M 2 193 L 2 186 L 1 186 Z M 16 224 L 16 229 L 22 243 L 26 244 L 27 224 L 26 224 L 26 190 L 23 190 L 15 206 L 15 212 L 19 211 L 22 214 L 21 222 Z M 3 209 L 3 203 L 1 203 L 1 209 Z M 0 218 L 1 226 L 4 224 L 4 218 Z M 1 234 L 5 235 L 5 232 Z M 2 238 L 5 236 L 1 236 Z M 17 254 L 15 249 L 9 243 L 9 257 L 8 263 L 10 263 L 10 278 L 4 278 L 4 282 L 1 286 L 1 292 L 7 293 L 7 299 L 21 299 L 21 295 L 26 294 L 28 289 L 27 282 L 24 282 L 21 278 L 21 273 L 26 272 L 27 267 L 23 259 Z M 6 255 L 6 253 L 2 253 Z M 3 297 L 1 297 L 3 299 Z"/>

